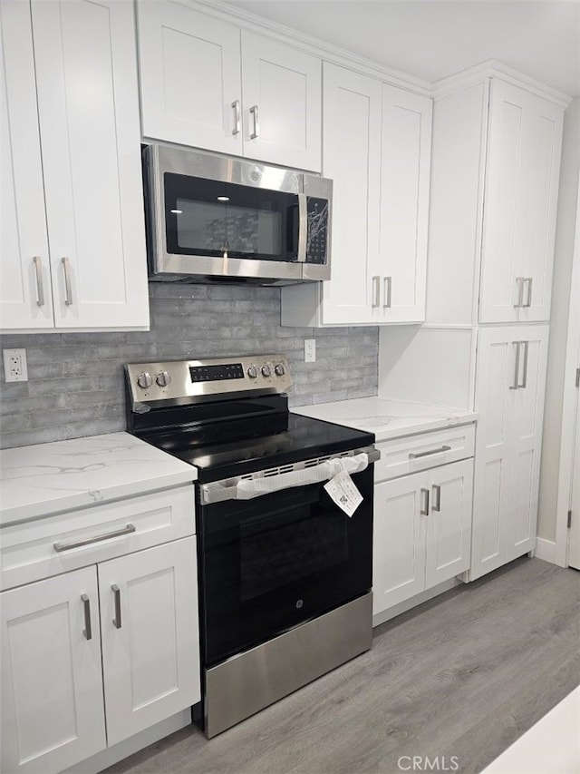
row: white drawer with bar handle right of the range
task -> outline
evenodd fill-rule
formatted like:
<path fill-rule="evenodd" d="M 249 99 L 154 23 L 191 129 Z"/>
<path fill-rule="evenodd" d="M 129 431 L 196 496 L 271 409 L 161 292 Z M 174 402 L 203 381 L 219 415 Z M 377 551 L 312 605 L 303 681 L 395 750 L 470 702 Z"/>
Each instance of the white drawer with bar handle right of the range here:
<path fill-rule="evenodd" d="M 473 456 L 475 425 L 393 438 L 376 446 L 381 450 L 381 459 L 374 465 L 374 480 L 387 481 Z"/>

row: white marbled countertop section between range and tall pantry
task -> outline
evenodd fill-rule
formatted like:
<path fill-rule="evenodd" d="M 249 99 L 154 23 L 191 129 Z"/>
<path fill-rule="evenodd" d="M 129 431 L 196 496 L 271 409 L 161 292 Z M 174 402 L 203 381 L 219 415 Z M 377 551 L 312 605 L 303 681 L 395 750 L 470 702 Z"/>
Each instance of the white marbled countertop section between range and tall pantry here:
<path fill-rule="evenodd" d="M 374 433 L 377 442 L 424 433 L 427 430 L 465 425 L 478 419 L 475 411 L 407 403 L 382 397 L 357 397 L 314 406 L 295 406 L 292 412 L 355 427 L 357 430 L 368 430 Z"/>

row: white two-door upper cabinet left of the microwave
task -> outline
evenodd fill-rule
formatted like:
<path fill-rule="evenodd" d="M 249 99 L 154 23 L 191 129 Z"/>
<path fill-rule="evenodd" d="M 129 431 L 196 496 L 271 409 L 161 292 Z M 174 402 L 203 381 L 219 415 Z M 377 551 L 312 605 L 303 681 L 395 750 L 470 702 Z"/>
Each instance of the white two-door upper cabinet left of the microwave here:
<path fill-rule="evenodd" d="M 146 327 L 132 5 L 33 0 L 28 7 L 7 0 L 2 20 L 3 122 L 13 161 L 12 173 L 3 175 L 9 228 L 2 263 L 10 280 L 2 327 Z"/>

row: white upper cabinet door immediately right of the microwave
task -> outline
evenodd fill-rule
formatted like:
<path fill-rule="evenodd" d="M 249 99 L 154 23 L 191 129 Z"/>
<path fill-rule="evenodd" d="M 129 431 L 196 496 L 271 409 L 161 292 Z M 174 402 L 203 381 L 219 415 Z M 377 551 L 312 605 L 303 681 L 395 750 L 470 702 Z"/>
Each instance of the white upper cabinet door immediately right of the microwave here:
<path fill-rule="evenodd" d="M 333 179 L 333 269 L 323 283 L 325 324 L 380 314 L 382 83 L 324 63 L 323 173 Z"/>

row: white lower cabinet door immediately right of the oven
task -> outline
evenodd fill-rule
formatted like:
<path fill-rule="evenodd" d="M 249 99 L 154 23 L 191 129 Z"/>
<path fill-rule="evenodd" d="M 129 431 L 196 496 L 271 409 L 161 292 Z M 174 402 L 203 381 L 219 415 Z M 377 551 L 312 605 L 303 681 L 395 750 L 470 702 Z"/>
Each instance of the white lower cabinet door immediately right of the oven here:
<path fill-rule="evenodd" d="M 374 487 L 372 613 L 410 599 L 425 588 L 424 473 Z"/>

